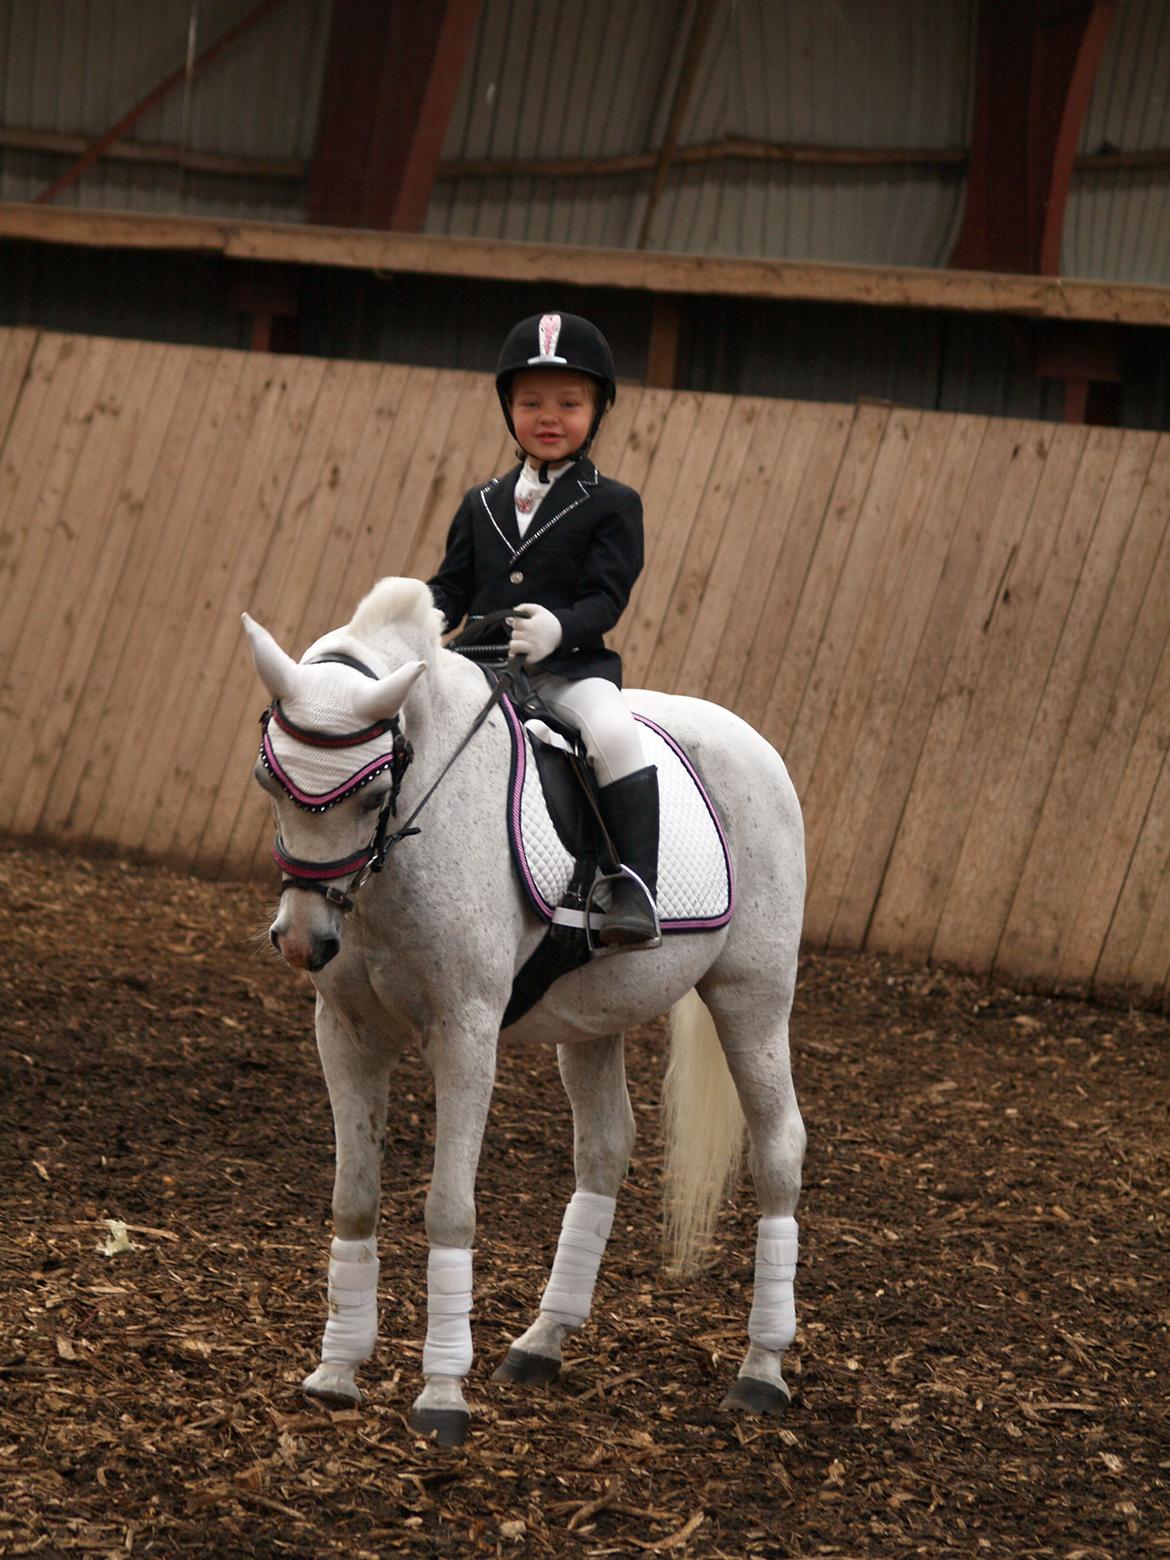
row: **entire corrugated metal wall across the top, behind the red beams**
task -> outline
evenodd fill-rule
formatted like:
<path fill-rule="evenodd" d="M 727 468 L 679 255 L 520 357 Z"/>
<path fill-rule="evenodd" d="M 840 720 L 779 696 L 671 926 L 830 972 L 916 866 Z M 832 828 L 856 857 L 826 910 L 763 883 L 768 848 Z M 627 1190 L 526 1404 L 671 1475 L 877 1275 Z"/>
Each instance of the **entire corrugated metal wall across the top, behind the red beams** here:
<path fill-rule="evenodd" d="M 76 137 L 114 123 L 254 0 L 0 0 L 0 125 Z M 945 264 L 963 207 L 977 0 L 722 0 L 649 246 L 713 256 Z M 304 162 L 317 137 L 331 0 L 282 0 L 125 139 Z M 431 232 L 633 246 L 700 0 L 484 0 L 449 125 Z M 730 140 L 741 154 L 727 154 Z M 899 167 L 769 159 L 768 147 L 948 151 Z M 755 148 L 755 156 L 743 153 Z M 1170 148 L 1170 0 L 1120 0 L 1083 153 Z M 0 147 L 0 200 L 27 201 L 73 154 Z M 484 161 L 632 158 L 622 172 L 493 175 Z M 101 159 L 61 197 L 97 209 L 304 220 L 304 183 Z M 1170 282 L 1170 168 L 1078 173 L 1062 270 Z"/>

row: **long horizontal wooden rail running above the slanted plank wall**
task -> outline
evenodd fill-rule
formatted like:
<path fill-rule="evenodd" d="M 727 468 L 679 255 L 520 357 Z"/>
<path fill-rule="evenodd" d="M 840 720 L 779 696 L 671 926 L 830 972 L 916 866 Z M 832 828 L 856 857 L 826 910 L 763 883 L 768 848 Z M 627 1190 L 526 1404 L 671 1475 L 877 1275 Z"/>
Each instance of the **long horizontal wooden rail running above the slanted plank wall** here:
<path fill-rule="evenodd" d="M 1009 314 L 1037 320 L 1170 326 L 1170 287 L 1069 281 L 1059 276 L 732 261 L 357 228 L 53 211 L 27 204 L 0 204 L 0 239 L 115 250 L 195 250 L 236 261 L 643 289 L 652 293 L 791 298 Z"/>

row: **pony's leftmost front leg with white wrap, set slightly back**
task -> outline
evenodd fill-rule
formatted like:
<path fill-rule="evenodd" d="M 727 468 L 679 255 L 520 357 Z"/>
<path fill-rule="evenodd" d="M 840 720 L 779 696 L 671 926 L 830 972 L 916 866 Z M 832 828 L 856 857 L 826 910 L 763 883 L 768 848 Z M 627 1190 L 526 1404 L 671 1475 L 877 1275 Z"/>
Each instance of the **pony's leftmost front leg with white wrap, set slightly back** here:
<path fill-rule="evenodd" d="M 378 1342 L 378 1206 L 390 1067 L 395 1053 L 346 1030 L 317 997 L 317 1048 L 334 1115 L 334 1239 L 321 1363 L 304 1392 L 331 1407 L 362 1401 L 354 1379 Z"/>

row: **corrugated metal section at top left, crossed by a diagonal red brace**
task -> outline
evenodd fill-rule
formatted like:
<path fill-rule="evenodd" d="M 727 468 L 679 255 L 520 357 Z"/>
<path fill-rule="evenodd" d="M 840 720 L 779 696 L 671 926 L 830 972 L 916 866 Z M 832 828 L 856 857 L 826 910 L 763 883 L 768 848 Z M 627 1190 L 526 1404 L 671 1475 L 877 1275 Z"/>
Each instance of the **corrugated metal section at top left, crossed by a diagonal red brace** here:
<path fill-rule="evenodd" d="M 256 0 L 0 0 L 0 125 L 92 139 Z M 236 158 L 307 159 L 317 134 L 329 0 L 284 0 L 122 137 Z M 31 201 L 76 153 L 0 148 L 0 200 Z M 304 220 L 301 179 L 101 159 L 64 206 Z"/>

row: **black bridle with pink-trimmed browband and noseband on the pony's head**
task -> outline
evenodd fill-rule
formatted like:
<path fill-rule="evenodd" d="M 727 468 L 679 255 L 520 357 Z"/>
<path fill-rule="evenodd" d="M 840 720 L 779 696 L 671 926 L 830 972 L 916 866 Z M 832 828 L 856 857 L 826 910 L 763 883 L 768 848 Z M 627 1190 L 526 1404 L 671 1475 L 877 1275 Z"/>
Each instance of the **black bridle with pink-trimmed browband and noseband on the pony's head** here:
<path fill-rule="evenodd" d="M 307 666 L 320 666 L 326 663 L 337 663 L 340 666 L 351 666 L 354 671 L 362 672 L 363 677 L 373 677 L 378 680 L 378 672 L 359 661 L 353 655 L 343 655 L 334 652 L 332 655 L 320 655 L 312 661 L 306 661 Z M 284 846 L 279 830 L 276 831 L 276 842 L 273 846 L 273 860 L 281 869 L 281 892 L 285 888 L 301 888 L 312 894 L 320 894 L 324 900 L 334 905 L 340 911 L 351 911 L 354 908 L 354 895 L 362 889 L 370 878 L 381 872 L 387 863 L 387 856 L 402 839 L 410 835 L 418 835 L 421 830 L 413 828 L 413 822 L 423 811 L 426 803 L 438 789 L 440 782 L 446 777 L 454 761 L 468 746 L 471 738 L 487 721 L 488 714 L 495 710 L 499 700 L 504 697 L 507 686 L 510 685 L 510 674 L 507 671 L 501 672 L 498 680 L 491 688 L 491 696 L 488 697 L 484 708 L 479 711 L 471 724 L 470 732 L 454 750 L 451 758 L 443 764 L 435 778 L 434 785 L 427 789 L 423 800 L 413 810 L 410 817 L 390 833 L 390 819 L 398 817 L 398 792 L 402 788 L 402 778 L 413 761 L 415 750 L 410 743 L 402 735 L 401 722 L 396 714 L 390 716 L 388 721 L 376 721 L 373 725 L 362 727 L 360 732 L 343 732 L 339 735 L 324 735 L 321 732 L 309 732 L 301 725 L 296 725 L 284 713 L 279 699 L 273 699 L 267 710 L 261 714 L 261 725 L 264 727 L 264 736 L 261 738 L 261 763 L 273 780 L 281 786 L 281 789 L 289 796 L 295 807 L 300 807 L 306 813 L 326 813 L 331 807 L 337 807 L 339 802 L 345 802 L 346 797 L 354 796 L 357 791 L 363 789 L 376 775 L 390 772 L 390 788 L 382 797 L 382 805 L 378 810 L 378 822 L 374 824 L 374 831 L 370 842 L 362 849 L 356 850 L 349 856 L 343 856 L 339 861 L 306 861 L 301 856 L 293 856 Z M 332 791 L 312 794 L 303 791 L 292 775 L 287 774 L 281 764 L 279 757 L 271 744 L 271 736 L 268 733 L 270 724 L 276 724 L 289 736 L 295 738 L 298 743 L 304 743 L 307 747 L 359 747 L 365 743 L 376 741 L 390 732 L 392 744 L 390 752 L 378 757 L 368 764 L 357 769 L 343 785 L 335 786 Z M 349 885 L 348 892 L 337 888 L 335 878 L 349 877 L 357 874 Z"/>

